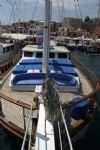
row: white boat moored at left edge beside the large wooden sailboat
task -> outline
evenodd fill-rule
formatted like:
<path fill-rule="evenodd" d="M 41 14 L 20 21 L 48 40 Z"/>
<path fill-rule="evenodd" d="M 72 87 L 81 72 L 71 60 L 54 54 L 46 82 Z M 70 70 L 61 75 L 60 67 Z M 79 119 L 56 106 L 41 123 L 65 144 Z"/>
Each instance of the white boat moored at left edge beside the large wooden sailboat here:
<path fill-rule="evenodd" d="M 15 59 L 13 59 L 15 57 Z M 0 43 L 0 79 L 20 58 L 17 43 L 12 40 Z"/>

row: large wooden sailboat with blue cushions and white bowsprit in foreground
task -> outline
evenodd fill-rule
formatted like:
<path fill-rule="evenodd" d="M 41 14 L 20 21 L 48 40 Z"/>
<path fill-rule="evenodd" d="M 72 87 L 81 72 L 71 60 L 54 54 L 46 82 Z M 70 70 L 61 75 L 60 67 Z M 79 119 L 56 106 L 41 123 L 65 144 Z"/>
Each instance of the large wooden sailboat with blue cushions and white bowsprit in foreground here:
<path fill-rule="evenodd" d="M 27 142 L 28 149 L 72 150 L 72 143 L 90 127 L 96 109 L 94 96 L 100 85 L 94 74 L 65 47 L 50 44 L 50 6 L 45 0 L 43 45 L 23 48 L 21 60 L 1 89 L 1 125 L 23 139 L 21 150 Z M 94 87 L 78 66 L 91 73 Z M 33 135 L 34 97 L 40 104 Z"/>

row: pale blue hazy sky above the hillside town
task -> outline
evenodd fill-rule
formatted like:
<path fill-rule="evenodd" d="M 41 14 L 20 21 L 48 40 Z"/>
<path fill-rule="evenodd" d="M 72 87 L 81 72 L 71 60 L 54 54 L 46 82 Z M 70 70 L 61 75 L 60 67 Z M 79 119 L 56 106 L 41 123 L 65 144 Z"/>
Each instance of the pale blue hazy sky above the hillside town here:
<path fill-rule="evenodd" d="M 44 20 L 44 2 L 45 0 L 0 0 L 1 24 L 11 24 L 18 20 Z M 79 4 L 82 18 L 98 16 L 99 0 L 79 0 Z M 61 21 L 61 16 L 80 18 L 77 0 L 52 0 L 52 21 Z"/>

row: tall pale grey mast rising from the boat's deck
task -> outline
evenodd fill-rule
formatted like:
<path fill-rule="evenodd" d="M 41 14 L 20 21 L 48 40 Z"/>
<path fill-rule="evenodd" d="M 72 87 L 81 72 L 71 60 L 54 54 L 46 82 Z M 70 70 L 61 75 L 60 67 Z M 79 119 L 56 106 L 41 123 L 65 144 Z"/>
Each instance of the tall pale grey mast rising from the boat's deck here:
<path fill-rule="evenodd" d="M 45 21 L 44 21 L 44 35 L 43 35 L 43 62 L 42 72 L 48 73 L 48 58 L 49 58 L 49 44 L 50 44 L 50 0 L 45 0 Z"/>

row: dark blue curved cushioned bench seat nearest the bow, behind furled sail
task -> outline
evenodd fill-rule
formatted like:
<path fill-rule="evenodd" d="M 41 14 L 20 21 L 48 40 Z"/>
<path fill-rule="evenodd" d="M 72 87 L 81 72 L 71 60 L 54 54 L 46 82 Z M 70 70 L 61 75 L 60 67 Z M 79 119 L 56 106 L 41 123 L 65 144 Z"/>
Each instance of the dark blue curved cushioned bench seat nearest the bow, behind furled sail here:
<path fill-rule="evenodd" d="M 28 73 L 16 75 L 12 81 L 13 85 L 41 85 L 45 79 L 44 73 Z M 48 74 L 59 86 L 75 86 L 77 81 L 73 76 L 65 74 Z"/>

